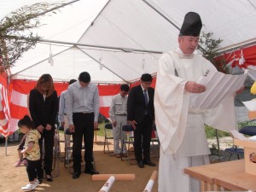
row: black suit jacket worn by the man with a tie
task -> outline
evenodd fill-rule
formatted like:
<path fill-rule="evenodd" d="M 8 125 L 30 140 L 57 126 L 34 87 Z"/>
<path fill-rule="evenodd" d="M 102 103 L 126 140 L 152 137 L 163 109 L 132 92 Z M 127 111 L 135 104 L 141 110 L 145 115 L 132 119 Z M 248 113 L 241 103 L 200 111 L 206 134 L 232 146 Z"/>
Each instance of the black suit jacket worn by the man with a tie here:
<path fill-rule="evenodd" d="M 146 106 L 143 88 L 141 84 L 131 88 L 127 101 L 127 120 L 136 120 L 138 124 L 143 122 L 145 110 L 148 110 L 150 119 L 154 120 L 154 89 L 148 89 L 148 105 Z"/>

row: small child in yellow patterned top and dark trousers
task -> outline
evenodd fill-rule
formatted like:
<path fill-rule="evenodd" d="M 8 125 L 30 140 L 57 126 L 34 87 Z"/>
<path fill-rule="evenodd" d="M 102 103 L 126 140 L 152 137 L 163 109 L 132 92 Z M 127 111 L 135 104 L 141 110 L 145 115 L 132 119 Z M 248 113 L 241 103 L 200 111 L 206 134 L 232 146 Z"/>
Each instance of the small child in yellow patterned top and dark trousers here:
<path fill-rule="evenodd" d="M 26 172 L 29 183 L 22 187 L 22 190 L 33 190 L 42 183 L 44 172 L 40 160 L 40 148 L 38 140 L 41 138 L 40 133 L 34 128 L 32 119 L 25 115 L 18 122 L 20 131 L 26 134 L 24 149 L 20 151 L 27 160 Z"/>

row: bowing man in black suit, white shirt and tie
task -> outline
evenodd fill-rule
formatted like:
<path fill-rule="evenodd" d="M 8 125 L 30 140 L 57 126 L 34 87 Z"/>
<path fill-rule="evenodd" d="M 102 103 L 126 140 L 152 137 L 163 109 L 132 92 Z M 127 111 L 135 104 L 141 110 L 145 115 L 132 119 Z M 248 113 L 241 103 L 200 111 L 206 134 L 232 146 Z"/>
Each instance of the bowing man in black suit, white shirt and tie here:
<path fill-rule="evenodd" d="M 144 73 L 141 84 L 130 90 L 127 101 L 127 120 L 134 129 L 134 153 L 140 168 L 144 168 L 144 165 L 155 166 L 150 160 L 154 122 L 154 89 L 150 87 L 151 83 L 152 76 Z"/>

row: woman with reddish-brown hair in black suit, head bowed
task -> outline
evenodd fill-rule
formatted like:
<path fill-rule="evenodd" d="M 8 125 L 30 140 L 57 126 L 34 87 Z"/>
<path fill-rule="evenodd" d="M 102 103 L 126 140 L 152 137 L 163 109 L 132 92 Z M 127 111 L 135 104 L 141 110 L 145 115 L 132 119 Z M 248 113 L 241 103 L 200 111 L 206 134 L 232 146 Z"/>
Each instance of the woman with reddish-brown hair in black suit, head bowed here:
<path fill-rule="evenodd" d="M 52 182 L 53 146 L 55 135 L 55 119 L 58 112 L 58 97 L 52 77 L 43 74 L 30 91 L 29 111 L 32 121 L 41 133 L 39 146 L 41 150 L 41 161 L 44 159 L 44 172 L 46 180 Z M 42 150 L 44 140 L 44 153 Z M 44 155 L 44 157 L 43 157 Z"/>

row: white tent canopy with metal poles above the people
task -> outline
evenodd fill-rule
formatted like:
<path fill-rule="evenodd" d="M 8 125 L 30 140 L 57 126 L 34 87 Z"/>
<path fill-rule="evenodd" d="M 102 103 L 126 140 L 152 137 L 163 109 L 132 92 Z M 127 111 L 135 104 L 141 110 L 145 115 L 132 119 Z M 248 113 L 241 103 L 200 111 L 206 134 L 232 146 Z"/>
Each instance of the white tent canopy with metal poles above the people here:
<path fill-rule="evenodd" d="M 0 17 L 35 2 L 40 1 L 1 0 Z M 120 83 L 135 81 L 142 73 L 154 74 L 160 54 L 151 51 L 177 47 L 177 28 L 189 11 L 201 15 L 203 32 L 224 40 L 222 49 L 255 43 L 256 0 L 80 0 L 46 16 L 46 25 L 36 31 L 49 41 L 75 44 L 37 44 L 11 68 L 11 79 L 38 79 L 50 73 L 57 81 L 68 81 L 88 71 L 94 82 Z M 50 53 L 53 65 L 48 62 Z"/>

